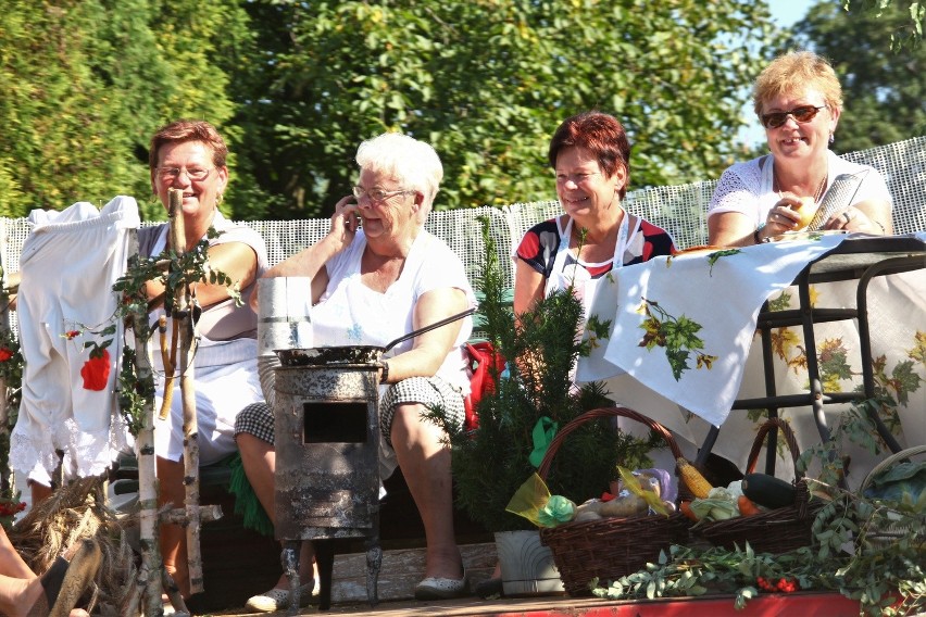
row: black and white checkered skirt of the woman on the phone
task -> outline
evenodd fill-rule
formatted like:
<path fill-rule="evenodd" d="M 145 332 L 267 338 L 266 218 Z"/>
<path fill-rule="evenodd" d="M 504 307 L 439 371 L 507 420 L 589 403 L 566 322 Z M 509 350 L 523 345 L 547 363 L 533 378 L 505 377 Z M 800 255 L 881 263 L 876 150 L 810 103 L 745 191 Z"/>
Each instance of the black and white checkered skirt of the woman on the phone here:
<path fill-rule="evenodd" d="M 396 407 L 406 403 L 421 403 L 431 410 L 440 410 L 450 423 L 458 426 L 463 425 L 466 416 L 463 393 L 440 377 L 403 379 L 393 383 L 379 402 L 379 431 L 390 446 Z M 239 432 L 247 432 L 267 443 L 273 443 L 273 410 L 266 403 L 254 403 L 241 410 L 235 418 L 235 436 L 237 437 Z"/>

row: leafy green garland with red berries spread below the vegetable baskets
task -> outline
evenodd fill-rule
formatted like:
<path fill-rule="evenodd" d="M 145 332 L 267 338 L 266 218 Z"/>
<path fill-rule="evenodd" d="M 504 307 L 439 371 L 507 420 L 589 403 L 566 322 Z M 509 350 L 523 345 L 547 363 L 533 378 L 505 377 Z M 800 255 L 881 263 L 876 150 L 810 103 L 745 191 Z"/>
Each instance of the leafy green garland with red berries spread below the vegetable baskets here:
<path fill-rule="evenodd" d="M 843 414 L 829 442 L 801 457 L 822 461 L 824 480 L 809 479 L 812 499 L 828 503 L 816 514 L 813 542 L 781 554 L 755 553 L 747 544 L 733 551 L 724 547 L 672 546 L 656 564 L 606 587 L 592 580 L 599 597 L 640 599 L 703 595 L 709 591 L 734 593 L 737 608 L 761 591 L 837 591 L 858 600 L 869 615 L 902 616 L 926 610 L 926 492 L 918 502 L 867 499 L 838 488 L 842 436 L 850 440 L 867 436 L 874 427 L 864 410 L 880 407 L 883 400 L 862 401 Z M 833 462 L 833 463 L 829 463 Z M 885 530 L 902 530 L 885 540 Z"/>

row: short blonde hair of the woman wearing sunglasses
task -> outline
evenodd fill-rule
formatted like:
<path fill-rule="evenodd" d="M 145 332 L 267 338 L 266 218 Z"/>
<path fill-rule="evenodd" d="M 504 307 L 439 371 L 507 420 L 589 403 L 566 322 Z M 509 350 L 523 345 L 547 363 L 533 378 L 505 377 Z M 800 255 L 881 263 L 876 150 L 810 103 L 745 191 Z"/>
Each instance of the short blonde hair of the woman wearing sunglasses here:
<path fill-rule="evenodd" d="M 791 51 L 776 58 L 760 73 L 752 88 L 755 115 L 779 95 L 813 88 L 823 95 L 826 106 L 842 111 L 842 86 L 829 62 L 812 51 Z"/>

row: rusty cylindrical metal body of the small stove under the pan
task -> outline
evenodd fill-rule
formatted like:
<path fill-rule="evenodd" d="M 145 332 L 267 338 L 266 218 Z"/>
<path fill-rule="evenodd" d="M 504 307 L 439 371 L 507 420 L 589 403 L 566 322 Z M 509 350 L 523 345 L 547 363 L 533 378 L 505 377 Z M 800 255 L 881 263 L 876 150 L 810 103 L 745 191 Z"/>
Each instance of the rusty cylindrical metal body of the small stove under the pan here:
<path fill-rule="evenodd" d="M 377 532 L 377 386 L 375 366 L 277 368 L 277 539 Z"/>

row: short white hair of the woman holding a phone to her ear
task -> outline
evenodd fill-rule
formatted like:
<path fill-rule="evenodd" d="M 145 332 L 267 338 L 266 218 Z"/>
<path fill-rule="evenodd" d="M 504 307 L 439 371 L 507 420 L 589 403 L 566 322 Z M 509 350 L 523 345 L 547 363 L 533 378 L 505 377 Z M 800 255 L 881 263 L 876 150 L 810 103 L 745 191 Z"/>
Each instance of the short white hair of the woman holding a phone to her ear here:
<path fill-rule="evenodd" d="M 384 133 L 360 144 L 356 164 L 361 169 L 384 174 L 400 182 L 402 188 L 422 193 L 424 201 L 418 218 L 424 224 L 443 179 L 443 165 L 430 144 L 401 133 Z"/>

